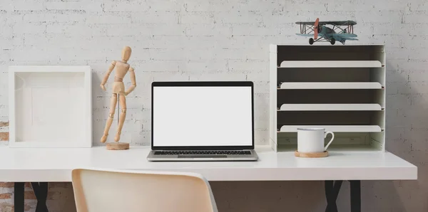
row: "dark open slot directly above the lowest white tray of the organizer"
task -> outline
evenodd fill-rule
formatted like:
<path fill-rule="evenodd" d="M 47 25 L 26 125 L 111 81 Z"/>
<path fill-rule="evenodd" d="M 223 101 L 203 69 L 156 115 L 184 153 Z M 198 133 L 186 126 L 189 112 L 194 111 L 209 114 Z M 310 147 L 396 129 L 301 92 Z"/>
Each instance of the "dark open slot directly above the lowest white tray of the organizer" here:
<path fill-rule="evenodd" d="M 283 125 L 377 125 L 384 129 L 381 111 L 280 111 L 277 127 Z"/>

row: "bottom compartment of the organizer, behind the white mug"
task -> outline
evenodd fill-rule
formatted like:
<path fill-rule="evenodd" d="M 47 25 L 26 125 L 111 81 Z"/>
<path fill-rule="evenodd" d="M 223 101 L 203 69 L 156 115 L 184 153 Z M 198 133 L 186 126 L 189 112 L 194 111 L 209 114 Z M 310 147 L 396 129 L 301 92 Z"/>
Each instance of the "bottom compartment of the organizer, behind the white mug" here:
<path fill-rule="evenodd" d="M 325 144 L 330 141 L 325 139 Z M 383 132 L 335 132 L 329 152 L 381 152 Z M 294 152 L 297 149 L 297 132 L 277 133 L 278 152 Z"/>

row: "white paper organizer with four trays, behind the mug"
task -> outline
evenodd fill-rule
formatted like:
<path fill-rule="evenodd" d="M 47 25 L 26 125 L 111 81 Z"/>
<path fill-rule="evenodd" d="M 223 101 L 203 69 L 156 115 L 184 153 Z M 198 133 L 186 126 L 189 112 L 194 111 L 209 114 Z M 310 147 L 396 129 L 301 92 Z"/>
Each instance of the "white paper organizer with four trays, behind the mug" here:
<path fill-rule="evenodd" d="M 297 128 L 335 132 L 329 152 L 383 152 L 383 45 L 270 46 L 270 145 L 297 149 Z"/>

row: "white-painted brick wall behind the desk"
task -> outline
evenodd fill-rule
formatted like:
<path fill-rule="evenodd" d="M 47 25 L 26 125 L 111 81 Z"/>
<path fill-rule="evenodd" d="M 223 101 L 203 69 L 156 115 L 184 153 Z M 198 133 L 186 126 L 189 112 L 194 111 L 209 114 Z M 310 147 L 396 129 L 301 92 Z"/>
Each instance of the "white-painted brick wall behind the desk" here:
<path fill-rule="evenodd" d="M 110 97 L 98 84 L 123 46 L 131 46 L 129 63 L 136 68 L 138 87 L 128 97 L 122 139 L 150 142 L 153 80 L 253 80 L 256 142 L 265 144 L 268 44 L 307 43 L 295 36 L 299 26 L 294 22 L 317 17 L 357 21 L 360 41 L 350 43 L 386 44 L 387 149 L 419 166 L 419 181 L 364 182 L 363 211 L 428 211 L 425 0 L 1 0 L 0 122 L 8 120 L 8 65 L 91 65 L 98 145 Z M 344 188 L 337 203 L 349 211 L 347 184 Z M 213 184 L 220 211 L 323 211 L 321 189 L 320 182 Z M 316 192 L 303 192 L 308 190 Z M 49 205 L 66 211 L 61 208 L 66 196 L 59 198 Z M 0 200 L 0 211 L 10 203 Z M 34 202 L 29 204 L 34 211 Z"/>

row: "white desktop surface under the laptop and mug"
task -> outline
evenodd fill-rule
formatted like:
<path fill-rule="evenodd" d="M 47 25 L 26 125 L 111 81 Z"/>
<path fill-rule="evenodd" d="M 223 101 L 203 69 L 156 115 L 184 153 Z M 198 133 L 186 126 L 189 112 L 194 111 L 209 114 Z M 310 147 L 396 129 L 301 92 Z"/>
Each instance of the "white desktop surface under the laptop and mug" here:
<path fill-rule="evenodd" d="M 332 152 L 297 158 L 257 147 L 259 161 L 149 162 L 150 147 L 113 151 L 93 148 L 0 147 L 0 181 L 71 181 L 78 168 L 190 171 L 209 181 L 414 180 L 417 166 L 389 152 Z"/>

